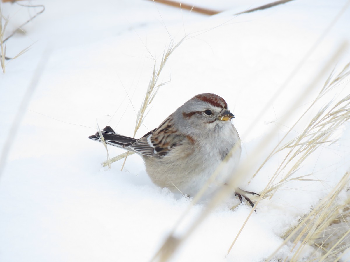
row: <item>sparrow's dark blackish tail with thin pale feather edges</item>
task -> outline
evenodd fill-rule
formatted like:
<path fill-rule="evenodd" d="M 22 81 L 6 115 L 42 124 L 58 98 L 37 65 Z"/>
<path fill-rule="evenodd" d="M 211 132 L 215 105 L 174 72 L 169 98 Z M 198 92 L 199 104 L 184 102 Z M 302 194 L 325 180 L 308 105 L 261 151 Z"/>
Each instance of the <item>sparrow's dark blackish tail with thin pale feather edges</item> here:
<path fill-rule="evenodd" d="M 131 145 L 136 141 L 136 138 L 122 136 L 114 132 L 114 130 L 110 126 L 106 126 L 103 131 L 101 131 L 102 136 L 106 142 L 106 144 L 117 146 L 117 147 L 125 147 L 126 145 Z M 100 134 L 96 132 L 96 134 L 89 136 L 90 139 L 101 142 Z"/>

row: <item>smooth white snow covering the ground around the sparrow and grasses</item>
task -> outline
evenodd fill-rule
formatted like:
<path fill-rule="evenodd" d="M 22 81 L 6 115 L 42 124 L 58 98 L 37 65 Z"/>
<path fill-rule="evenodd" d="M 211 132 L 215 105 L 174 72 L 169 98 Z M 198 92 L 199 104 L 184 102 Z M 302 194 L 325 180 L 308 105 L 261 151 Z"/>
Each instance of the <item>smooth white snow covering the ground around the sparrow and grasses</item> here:
<path fill-rule="evenodd" d="M 153 185 L 137 155 L 128 157 L 123 171 L 123 161 L 110 170 L 102 168 L 105 149 L 87 137 L 96 132 L 96 121 L 100 128 L 111 125 L 132 136 L 154 59 L 159 67 L 171 41 L 185 35 L 161 74 L 162 82 L 171 81 L 159 89 L 137 137 L 192 96 L 212 92 L 224 97 L 236 115 L 233 123 L 243 141 L 243 160 L 265 134 L 279 127 L 273 142 L 261 149 L 267 155 L 315 98 L 330 71 L 339 71 L 350 61 L 346 49 L 337 64 L 316 79 L 313 92 L 301 95 L 339 45 L 349 41 L 349 8 L 327 31 L 347 1 L 296 0 L 234 15 L 267 2 L 192 2 L 225 10 L 209 17 L 145 0 L 29 1 L 44 4 L 45 11 L 23 28 L 26 34 L 7 42 L 7 56 L 32 44 L 31 49 L 11 61 L 0 76 L 1 148 L 11 141 L 9 152 L 3 151 L 6 165 L 0 174 L 0 261 L 153 257 L 191 199 Z M 2 9 L 9 17 L 9 32 L 35 14 L 10 3 L 2 3 Z M 42 69 L 39 81 L 34 93 L 26 96 L 37 68 Z M 271 102 L 295 68 L 297 74 Z M 344 94 L 349 94 L 346 83 L 323 102 Z M 22 100 L 29 104 L 20 111 L 24 115 L 16 132 L 9 133 Z M 297 107 L 283 122 L 286 128 L 280 119 L 293 104 Z M 305 123 L 295 127 L 294 135 Z M 262 201 L 228 256 L 251 211 L 247 205 L 230 210 L 239 204 L 234 197 L 199 225 L 171 261 L 264 261 L 282 243 L 282 233 L 349 168 L 349 124 L 334 136 L 337 143 L 322 147 L 296 174 L 313 172 L 324 182 L 296 181 Z M 113 157 L 123 150 L 110 147 L 109 152 Z M 243 187 L 264 189 L 279 158 L 273 158 L 248 186 L 247 175 Z M 204 207 L 205 202 L 196 204 L 175 234 L 181 236 Z M 279 257 L 286 255 L 284 247 Z"/>

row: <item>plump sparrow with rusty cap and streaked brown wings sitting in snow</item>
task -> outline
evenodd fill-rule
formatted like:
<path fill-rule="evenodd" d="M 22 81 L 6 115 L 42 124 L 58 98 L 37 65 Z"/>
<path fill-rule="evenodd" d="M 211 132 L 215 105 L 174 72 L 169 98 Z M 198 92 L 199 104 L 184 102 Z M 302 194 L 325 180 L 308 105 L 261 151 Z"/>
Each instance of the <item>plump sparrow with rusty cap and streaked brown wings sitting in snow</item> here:
<path fill-rule="evenodd" d="M 220 163 L 225 168 L 209 185 L 209 192 L 225 184 L 239 163 L 241 141 L 231 122 L 234 117 L 221 96 L 204 93 L 192 97 L 139 139 L 118 134 L 110 126 L 101 133 L 106 144 L 140 155 L 154 184 L 195 196 Z M 89 138 L 101 142 L 99 132 Z M 241 203 L 243 196 L 254 207 L 246 194 L 258 195 L 240 188 L 235 192 Z"/>

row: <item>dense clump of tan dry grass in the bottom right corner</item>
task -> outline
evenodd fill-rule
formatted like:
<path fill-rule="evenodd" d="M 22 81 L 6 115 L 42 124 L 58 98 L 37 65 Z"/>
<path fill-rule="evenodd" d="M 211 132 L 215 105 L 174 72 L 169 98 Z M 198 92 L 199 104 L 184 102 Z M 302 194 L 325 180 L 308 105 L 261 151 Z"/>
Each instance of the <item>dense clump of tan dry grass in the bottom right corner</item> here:
<path fill-rule="evenodd" d="M 350 247 L 350 198 L 344 203 L 337 200 L 341 192 L 349 190 L 349 181 L 350 173 L 346 172 L 329 194 L 286 232 L 282 245 L 290 243 L 292 255 L 283 261 L 300 261 L 306 247 L 314 249 L 307 261 L 337 261 Z"/>

